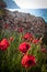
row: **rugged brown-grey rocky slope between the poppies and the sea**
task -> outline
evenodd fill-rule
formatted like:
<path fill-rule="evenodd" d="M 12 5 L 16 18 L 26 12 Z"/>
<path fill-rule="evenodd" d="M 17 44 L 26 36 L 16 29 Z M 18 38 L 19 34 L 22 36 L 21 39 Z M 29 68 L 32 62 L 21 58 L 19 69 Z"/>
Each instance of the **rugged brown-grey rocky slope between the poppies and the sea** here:
<path fill-rule="evenodd" d="M 5 12 L 7 14 L 2 18 L 2 25 L 8 23 L 10 30 L 13 30 L 13 28 L 23 28 L 25 32 L 32 32 L 37 35 L 44 34 L 46 22 L 43 18 L 17 11 L 10 12 L 5 10 Z"/>

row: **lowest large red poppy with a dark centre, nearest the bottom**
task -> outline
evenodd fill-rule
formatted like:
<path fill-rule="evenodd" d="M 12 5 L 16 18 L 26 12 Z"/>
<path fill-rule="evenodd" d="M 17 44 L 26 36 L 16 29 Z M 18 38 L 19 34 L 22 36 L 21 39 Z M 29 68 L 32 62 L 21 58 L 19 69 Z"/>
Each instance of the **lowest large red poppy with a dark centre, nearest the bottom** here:
<path fill-rule="evenodd" d="M 21 61 L 22 65 L 25 68 L 34 66 L 36 64 L 36 60 L 34 55 L 24 55 Z"/>

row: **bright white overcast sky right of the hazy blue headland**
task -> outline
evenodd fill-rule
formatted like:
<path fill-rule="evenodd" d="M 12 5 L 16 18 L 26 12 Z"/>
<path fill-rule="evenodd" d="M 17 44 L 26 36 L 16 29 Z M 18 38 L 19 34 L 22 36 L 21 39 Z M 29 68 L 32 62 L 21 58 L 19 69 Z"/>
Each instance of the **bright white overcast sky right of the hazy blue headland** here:
<path fill-rule="evenodd" d="M 47 0 L 13 0 L 22 9 L 47 8 Z"/>

